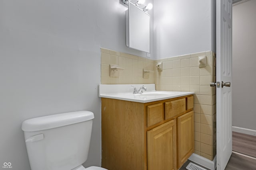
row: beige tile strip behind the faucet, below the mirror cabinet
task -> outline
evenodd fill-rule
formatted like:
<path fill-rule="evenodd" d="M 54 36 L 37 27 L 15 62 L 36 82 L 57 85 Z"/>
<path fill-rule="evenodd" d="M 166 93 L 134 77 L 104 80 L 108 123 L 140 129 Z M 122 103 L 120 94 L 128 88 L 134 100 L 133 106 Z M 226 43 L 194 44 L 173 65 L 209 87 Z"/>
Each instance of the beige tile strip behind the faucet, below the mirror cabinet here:
<path fill-rule="evenodd" d="M 119 77 L 110 77 L 110 64 L 124 70 Z M 101 48 L 101 84 L 150 84 L 154 83 L 154 61 L 126 53 Z M 143 78 L 144 70 L 152 71 Z"/>

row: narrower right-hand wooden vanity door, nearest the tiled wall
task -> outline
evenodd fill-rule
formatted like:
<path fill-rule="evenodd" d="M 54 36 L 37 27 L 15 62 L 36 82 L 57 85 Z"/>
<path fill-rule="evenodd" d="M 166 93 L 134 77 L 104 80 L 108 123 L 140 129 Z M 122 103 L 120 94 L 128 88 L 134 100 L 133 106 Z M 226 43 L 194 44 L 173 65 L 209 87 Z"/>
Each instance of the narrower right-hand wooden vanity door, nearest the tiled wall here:
<path fill-rule="evenodd" d="M 194 112 L 178 117 L 178 168 L 194 152 Z"/>

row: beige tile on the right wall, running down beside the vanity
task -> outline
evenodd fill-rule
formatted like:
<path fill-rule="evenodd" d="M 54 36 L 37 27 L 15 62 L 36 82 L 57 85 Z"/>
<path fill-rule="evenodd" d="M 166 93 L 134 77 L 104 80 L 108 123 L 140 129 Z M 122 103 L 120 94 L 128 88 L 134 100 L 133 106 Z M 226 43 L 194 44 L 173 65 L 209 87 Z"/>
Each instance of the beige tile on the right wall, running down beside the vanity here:
<path fill-rule="evenodd" d="M 207 56 L 206 67 L 198 67 L 198 57 Z M 195 153 L 213 160 L 216 155 L 216 58 L 212 51 L 154 61 L 162 62 L 163 70 L 154 68 L 156 90 L 188 91 L 194 94 Z"/>

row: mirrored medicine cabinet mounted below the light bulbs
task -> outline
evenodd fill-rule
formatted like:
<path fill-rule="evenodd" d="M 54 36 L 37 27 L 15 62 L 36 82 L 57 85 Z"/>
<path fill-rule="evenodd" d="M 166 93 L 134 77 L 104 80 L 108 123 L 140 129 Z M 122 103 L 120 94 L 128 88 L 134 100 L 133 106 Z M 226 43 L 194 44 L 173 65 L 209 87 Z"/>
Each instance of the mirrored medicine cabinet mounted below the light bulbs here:
<path fill-rule="evenodd" d="M 150 15 L 131 2 L 126 11 L 126 45 L 150 53 Z"/>

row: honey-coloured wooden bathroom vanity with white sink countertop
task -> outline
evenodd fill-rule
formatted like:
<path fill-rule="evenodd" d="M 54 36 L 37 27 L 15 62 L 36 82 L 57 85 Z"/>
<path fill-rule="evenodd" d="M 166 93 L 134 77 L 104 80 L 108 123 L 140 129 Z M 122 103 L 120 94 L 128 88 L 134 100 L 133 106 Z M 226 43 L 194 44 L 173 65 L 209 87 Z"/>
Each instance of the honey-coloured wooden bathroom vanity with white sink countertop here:
<path fill-rule="evenodd" d="M 177 170 L 186 162 L 194 152 L 193 92 L 160 97 L 167 93 L 153 90 L 132 99 L 128 93 L 127 99 L 111 90 L 109 96 L 99 93 L 103 168 Z"/>

